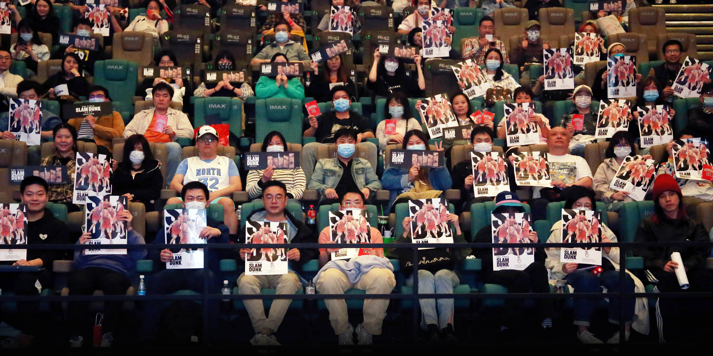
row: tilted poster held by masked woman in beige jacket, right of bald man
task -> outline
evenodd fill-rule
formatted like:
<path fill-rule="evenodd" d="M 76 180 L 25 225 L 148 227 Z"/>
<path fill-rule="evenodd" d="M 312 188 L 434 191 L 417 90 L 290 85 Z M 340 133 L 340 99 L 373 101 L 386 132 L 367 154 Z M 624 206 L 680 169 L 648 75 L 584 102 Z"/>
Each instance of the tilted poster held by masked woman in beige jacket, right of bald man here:
<path fill-rule="evenodd" d="M 609 187 L 629 193 L 631 199 L 642 201 L 650 184 L 654 182 L 655 174 L 656 161 L 651 158 L 651 155 L 627 156 Z"/>

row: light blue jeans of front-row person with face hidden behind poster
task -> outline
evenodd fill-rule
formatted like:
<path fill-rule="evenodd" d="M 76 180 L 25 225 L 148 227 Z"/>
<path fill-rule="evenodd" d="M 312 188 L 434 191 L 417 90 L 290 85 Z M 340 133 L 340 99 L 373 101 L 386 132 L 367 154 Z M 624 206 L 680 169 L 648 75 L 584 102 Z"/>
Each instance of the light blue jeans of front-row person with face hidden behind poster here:
<path fill-rule="evenodd" d="M 451 293 L 461 281 L 456 273 L 449 269 L 442 269 L 436 274 L 419 269 L 419 293 Z M 414 286 L 414 275 L 406 281 L 406 286 Z M 419 299 L 421 305 L 421 328 L 426 330 L 426 325 L 436 324 L 438 329 L 443 329 L 448 324 L 453 325 L 453 299 Z"/>

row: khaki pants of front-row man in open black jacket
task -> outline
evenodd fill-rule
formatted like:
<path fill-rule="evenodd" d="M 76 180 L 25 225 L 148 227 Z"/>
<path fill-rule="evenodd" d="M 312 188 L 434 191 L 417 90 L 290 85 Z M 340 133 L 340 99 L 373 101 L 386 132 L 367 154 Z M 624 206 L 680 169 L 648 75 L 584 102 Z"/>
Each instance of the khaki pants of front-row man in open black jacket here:
<path fill-rule="evenodd" d="M 299 288 L 302 288 L 302 283 L 299 282 L 297 275 L 292 272 L 270 276 L 247 276 L 242 273 L 237 278 L 237 293 L 239 294 L 260 294 L 261 288 L 275 288 L 276 294 L 294 294 Z M 265 318 L 265 307 L 262 305 L 262 299 L 245 299 L 242 300 L 242 303 L 245 304 L 247 315 L 250 316 L 252 328 L 255 329 L 255 333 L 260 333 L 264 328 L 268 328 L 273 332 L 277 331 L 292 300 L 272 300 L 270 318 Z"/>

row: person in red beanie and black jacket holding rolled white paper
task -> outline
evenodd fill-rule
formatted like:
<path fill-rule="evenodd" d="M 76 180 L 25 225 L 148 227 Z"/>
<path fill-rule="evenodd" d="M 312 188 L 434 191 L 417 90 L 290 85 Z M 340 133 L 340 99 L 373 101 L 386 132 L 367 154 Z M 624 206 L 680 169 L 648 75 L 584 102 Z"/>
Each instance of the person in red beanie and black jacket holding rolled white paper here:
<path fill-rule="evenodd" d="M 654 214 L 641 221 L 635 242 L 709 241 L 703 224 L 686 216 L 681 189 L 670 174 L 656 178 L 653 195 Z M 686 291 L 710 292 L 713 291 L 713 272 L 705 269 L 710 251 L 709 246 L 643 246 L 637 248 L 635 254 L 644 258 L 645 280 L 655 285 L 655 292 L 681 292 L 686 288 L 679 285 L 678 268 L 686 271 L 690 286 Z M 674 252 L 680 253 L 683 266 L 672 261 Z M 664 331 L 667 339 L 687 336 L 701 340 L 697 337 L 707 331 L 710 314 L 709 298 L 659 298 L 656 302 L 659 341 L 666 342 Z M 692 315 L 696 318 L 691 318 Z"/>

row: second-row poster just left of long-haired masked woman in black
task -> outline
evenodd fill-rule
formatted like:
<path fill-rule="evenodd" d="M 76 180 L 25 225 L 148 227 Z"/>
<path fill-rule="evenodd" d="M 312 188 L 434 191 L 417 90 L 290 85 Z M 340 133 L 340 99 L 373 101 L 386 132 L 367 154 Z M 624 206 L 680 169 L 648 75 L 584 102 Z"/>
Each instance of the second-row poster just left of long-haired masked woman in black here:
<path fill-rule="evenodd" d="M 74 204 L 85 204 L 88 197 L 111 194 L 111 162 L 106 155 L 77 152 L 74 169 Z"/>

